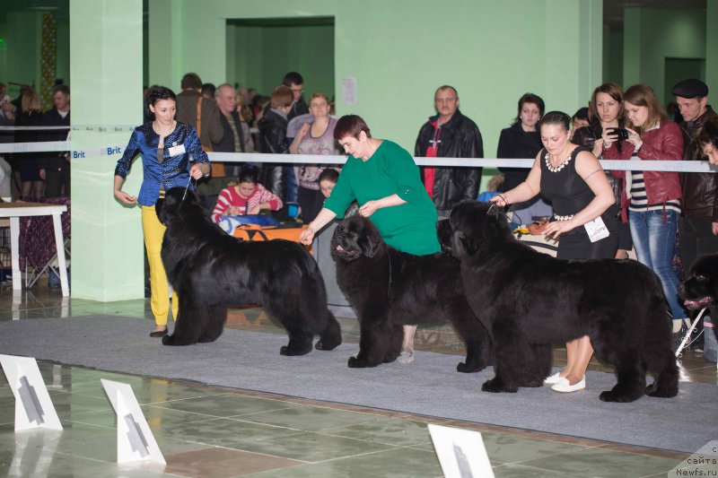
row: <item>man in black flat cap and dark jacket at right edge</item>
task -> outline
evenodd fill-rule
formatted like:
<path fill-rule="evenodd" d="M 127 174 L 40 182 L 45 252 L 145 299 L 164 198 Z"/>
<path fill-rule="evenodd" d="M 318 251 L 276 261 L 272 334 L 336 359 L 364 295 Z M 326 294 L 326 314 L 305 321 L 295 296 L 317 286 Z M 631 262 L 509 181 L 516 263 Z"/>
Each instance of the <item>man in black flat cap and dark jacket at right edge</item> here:
<path fill-rule="evenodd" d="M 696 132 L 714 110 L 708 106 L 708 87 L 695 78 L 676 84 L 671 90 L 679 105 L 683 121 L 683 161 L 705 159 L 696 143 Z M 718 174 L 679 173 L 683 189 L 679 219 L 680 248 L 683 267 L 687 271 L 696 259 L 705 254 L 718 252 Z M 718 318 L 718 317 L 714 317 Z M 702 337 L 701 337 L 702 338 Z M 701 340 L 696 341 L 701 347 Z"/>

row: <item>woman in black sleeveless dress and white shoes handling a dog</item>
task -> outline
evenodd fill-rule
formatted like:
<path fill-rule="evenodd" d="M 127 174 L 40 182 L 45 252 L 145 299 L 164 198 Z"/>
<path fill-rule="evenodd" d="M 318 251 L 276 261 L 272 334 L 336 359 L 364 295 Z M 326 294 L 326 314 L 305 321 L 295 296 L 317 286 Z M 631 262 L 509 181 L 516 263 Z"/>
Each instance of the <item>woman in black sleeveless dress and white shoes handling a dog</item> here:
<path fill-rule="evenodd" d="M 544 149 L 538 152 L 528 178 L 491 201 L 503 206 L 527 201 L 540 193 L 553 202 L 554 215 L 544 234 L 561 237 L 558 258 L 612 258 L 618 245 L 616 218 L 607 213 L 615 202 L 613 190 L 596 157 L 571 143 L 570 125 L 571 117 L 565 113 L 547 113 L 538 124 Z M 551 388 L 557 392 L 585 388 L 592 354 L 588 336 L 566 343 L 565 369 L 546 382 L 553 384 Z"/>

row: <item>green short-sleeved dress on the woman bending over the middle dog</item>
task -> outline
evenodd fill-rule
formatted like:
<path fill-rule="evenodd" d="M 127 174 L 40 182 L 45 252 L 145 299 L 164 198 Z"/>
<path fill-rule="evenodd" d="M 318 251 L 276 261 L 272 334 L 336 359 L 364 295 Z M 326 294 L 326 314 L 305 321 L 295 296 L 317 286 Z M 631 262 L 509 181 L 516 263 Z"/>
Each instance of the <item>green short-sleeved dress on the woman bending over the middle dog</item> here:
<path fill-rule="evenodd" d="M 367 161 L 349 156 L 324 207 L 337 217 L 356 199 L 359 205 L 398 195 L 406 204 L 382 207 L 370 218 L 392 248 L 425 256 L 441 250 L 436 237 L 436 208 L 406 150 L 384 140 Z"/>

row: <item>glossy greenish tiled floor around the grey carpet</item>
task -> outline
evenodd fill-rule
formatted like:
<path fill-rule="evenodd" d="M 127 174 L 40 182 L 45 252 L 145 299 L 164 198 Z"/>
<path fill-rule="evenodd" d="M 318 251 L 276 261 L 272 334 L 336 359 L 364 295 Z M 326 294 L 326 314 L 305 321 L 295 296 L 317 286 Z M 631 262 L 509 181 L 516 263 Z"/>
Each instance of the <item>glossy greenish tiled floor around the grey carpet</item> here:
<path fill-rule="evenodd" d="M 145 300 L 63 300 L 41 284 L 0 288 L 0 320 L 90 314 L 148 318 Z M 354 319 L 341 319 L 355 330 Z M 281 332 L 262 309 L 232 310 L 228 326 Z M 346 341 L 357 336 L 347 333 Z M 448 326 L 420 328 L 416 347 L 463 353 Z M 2 353 L 2 351 L 0 351 Z M 556 350 L 556 364 L 565 357 Z M 666 476 L 686 456 L 655 449 L 477 423 L 324 404 L 246 390 L 39 363 L 65 430 L 14 433 L 13 395 L 0 376 L 0 475 L 8 476 L 442 476 L 426 423 L 478 430 L 495 476 Z M 601 369 L 592 363 L 591 369 Z M 682 379 L 716 384 L 715 364 L 683 358 Z M 167 465 L 117 465 L 115 413 L 100 378 L 132 386 Z M 675 476 L 676 474 L 672 474 Z"/>

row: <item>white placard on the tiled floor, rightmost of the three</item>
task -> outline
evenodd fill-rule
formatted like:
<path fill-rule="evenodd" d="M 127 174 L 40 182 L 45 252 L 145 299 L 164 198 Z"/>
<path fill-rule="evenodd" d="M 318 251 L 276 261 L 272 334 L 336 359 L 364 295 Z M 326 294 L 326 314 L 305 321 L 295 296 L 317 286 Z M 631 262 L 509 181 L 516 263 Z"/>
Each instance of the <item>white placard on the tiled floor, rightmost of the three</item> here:
<path fill-rule="evenodd" d="M 481 433 L 433 423 L 429 433 L 446 478 L 494 478 Z"/>

